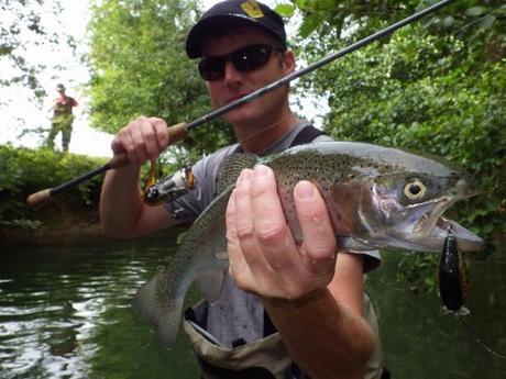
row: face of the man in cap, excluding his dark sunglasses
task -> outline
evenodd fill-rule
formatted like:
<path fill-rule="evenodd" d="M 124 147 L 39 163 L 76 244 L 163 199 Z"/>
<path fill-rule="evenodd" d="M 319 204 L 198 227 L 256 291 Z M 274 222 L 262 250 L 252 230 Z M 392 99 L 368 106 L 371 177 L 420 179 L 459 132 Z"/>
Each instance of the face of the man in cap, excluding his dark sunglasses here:
<path fill-rule="evenodd" d="M 254 44 L 276 45 L 275 38 L 261 30 L 244 27 L 241 33 L 209 40 L 202 48 L 202 56 L 226 55 Z M 231 62 L 228 62 L 224 77 L 206 83 L 213 107 L 220 108 L 280 79 L 292 73 L 294 68 L 295 62 L 292 52 L 275 51 L 265 66 L 253 71 L 241 73 Z M 228 112 L 222 119 L 238 126 L 248 124 L 263 126 L 265 123 L 275 122 L 277 121 L 277 113 L 280 112 L 282 107 L 287 101 L 287 91 L 286 86 L 280 87 Z M 258 125 L 258 123 L 261 124 Z"/>

